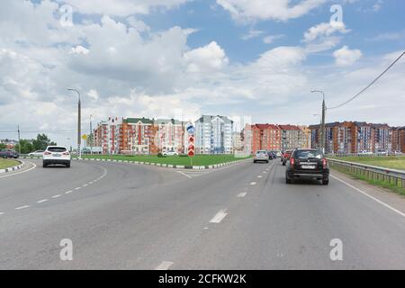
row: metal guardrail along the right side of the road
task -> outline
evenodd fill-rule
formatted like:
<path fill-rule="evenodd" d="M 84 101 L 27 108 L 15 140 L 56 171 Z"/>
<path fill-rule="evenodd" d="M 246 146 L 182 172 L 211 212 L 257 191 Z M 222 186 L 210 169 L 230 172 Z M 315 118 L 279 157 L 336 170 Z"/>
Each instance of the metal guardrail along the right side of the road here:
<path fill-rule="evenodd" d="M 328 158 L 329 166 L 405 188 L 405 171 Z"/>

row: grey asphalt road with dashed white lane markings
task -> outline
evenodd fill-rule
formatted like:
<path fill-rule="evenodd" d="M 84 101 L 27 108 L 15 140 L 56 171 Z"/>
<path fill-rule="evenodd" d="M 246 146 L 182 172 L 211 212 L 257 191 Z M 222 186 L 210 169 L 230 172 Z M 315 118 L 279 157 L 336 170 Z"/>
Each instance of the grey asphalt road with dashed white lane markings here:
<path fill-rule="evenodd" d="M 27 161 L 0 177 L 0 269 L 405 269 L 405 199 L 344 175 L 352 186 L 285 184 L 279 160 L 210 171 Z M 72 261 L 59 258 L 64 238 Z M 329 257 L 334 238 L 343 260 Z"/>

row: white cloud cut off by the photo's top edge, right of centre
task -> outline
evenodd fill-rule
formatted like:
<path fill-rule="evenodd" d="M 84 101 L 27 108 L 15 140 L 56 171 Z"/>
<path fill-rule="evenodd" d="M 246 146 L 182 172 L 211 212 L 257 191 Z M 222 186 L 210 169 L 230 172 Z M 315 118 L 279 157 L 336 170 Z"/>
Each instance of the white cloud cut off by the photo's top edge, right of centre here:
<path fill-rule="evenodd" d="M 287 21 L 301 17 L 325 3 L 325 0 L 302 0 L 290 4 L 288 0 L 217 0 L 238 21 Z"/>

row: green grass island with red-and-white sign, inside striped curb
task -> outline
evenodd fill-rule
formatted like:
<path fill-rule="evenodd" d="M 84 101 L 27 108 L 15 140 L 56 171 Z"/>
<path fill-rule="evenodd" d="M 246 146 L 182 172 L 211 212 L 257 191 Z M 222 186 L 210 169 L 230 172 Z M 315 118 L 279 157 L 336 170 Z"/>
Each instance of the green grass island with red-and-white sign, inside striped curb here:
<path fill-rule="evenodd" d="M 85 158 L 103 158 L 103 159 L 115 159 L 115 160 L 125 160 L 125 161 L 139 161 L 148 163 L 161 163 L 168 165 L 181 165 L 181 166 L 191 166 L 192 159 L 190 157 L 179 157 L 179 156 L 169 156 L 169 157 L 157 157 L 157 156 L 125 156 L 125 155 L 86 155 Z M 220 164 L 231 161 L 238 161 L 243 159 L 241 157 L 234 157 L 233 155 L 196 155 L 193 157 L 193 166 L 207 166 Z"/>

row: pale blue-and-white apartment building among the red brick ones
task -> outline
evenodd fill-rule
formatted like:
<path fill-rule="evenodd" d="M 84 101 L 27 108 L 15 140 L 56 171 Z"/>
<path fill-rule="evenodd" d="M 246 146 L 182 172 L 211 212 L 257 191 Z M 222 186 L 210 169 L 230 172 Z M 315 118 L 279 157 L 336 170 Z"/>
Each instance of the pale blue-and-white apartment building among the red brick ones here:
<path fill-rule="evenodd" d="M 226 116 L 202 115 L 195 121 L 197 154 L 232 153 L 233 121 Z"/>

